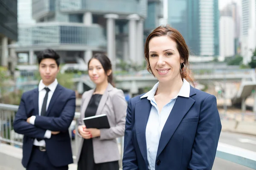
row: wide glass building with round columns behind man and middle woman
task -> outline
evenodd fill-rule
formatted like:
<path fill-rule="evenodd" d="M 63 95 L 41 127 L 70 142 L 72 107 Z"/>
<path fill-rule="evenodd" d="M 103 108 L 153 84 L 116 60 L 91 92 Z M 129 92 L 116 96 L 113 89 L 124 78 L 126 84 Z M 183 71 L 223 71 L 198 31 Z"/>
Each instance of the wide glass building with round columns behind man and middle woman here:
<path fill-rule="evenodd" d="M 35 55 L 52 48 L 62 63 L 87 62 L 93 54 L 108 54 L 142 65 L 146 35 L 159 25 L 160 0 L 32 0 L 36 23 L 19 29 L 17 53 Z"/>

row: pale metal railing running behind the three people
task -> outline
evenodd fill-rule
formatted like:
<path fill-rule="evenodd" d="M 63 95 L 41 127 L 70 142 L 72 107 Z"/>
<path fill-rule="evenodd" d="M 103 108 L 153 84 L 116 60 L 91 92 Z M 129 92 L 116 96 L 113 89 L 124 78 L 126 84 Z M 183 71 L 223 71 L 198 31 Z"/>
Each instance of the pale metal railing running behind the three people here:
<path fill-rule="evenodd" d="M 12 122 L 15 118 L 15 113 L 18 109 L 17 105 L 6 105 L 0 104 L 0 143 L 4 142 L 10 145 L 14 145 L 16 147 L 22 146 L 22 139 L 23 136 L 17 134 L 12 129 Z M 246 114 L 246 113 L 244 113 Z M 79 112 L 75 113 L 74 121 L 76 121 L 80 116 Z M 75 124 L 75 129 L 77 132 L 77 122 Z M 72 130 L 73 127 L 70 126 L 70 137 L 72 137 Z M 73 148 L 73 158 L 76 159 L 76 151 L 79 144 L 79 137 L 77 133 L 75 133 L 75 145 Z M 123 155 L 123 137 L 118 139 L 119 146 L 120 146 L 120 154 L 121 158 Z M 245 150 L 240 147 L 234 147 L 229 144 L 224 144 L 219 142 L 216 157 L 232 161 L 236 164 L 241 164 L 246 167 L 250 167 L 256 169 L 256 153 L 250 150 Z M 121 165 L 120 160 L 120 165 Z"/>

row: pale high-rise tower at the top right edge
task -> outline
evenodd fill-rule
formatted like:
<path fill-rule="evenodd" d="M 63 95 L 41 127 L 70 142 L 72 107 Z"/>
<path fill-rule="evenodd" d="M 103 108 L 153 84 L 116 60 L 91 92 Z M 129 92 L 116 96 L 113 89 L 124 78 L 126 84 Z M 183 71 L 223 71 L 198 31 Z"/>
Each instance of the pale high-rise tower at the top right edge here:
<path fill-rule="evenodd" d="M 242 0 L 241 26 L 241 55 L 247 64 L 256 48 L 256 0 Z"/>

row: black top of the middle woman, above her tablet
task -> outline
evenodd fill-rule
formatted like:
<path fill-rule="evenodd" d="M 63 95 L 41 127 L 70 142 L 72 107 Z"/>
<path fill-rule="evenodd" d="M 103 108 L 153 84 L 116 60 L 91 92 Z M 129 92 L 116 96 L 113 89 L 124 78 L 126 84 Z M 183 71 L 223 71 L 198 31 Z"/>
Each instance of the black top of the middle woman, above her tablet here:
<path fill-rule="evenodd" d="M 93 94 L 85 110 L 84 117 L 95 116 L 102 94 Z"/>

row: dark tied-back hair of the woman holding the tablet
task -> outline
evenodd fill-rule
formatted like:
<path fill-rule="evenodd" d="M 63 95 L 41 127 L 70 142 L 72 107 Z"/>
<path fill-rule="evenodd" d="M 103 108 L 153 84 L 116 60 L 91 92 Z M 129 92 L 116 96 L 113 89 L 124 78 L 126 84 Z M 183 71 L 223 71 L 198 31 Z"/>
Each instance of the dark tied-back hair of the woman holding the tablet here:
<path fill-rule="evenodd" d="M 112 70 L 112 65 L 111 65 L 111 61 L 110 59 L 105 55 L 105 54 L 102 54 L 102 53 L 96 53 L 93 55 L 93 57 L 89 60 L 88 62 L 88 68 L 89 68 L 89 64 L 90 64 L 90 61 L 92 59 L 98 59 L 99 62 L 101 63 L 104 71 L 105 71 L 105 74 L 107 75 L 107 72 L 109 70 Z M 108 76 L 108 82 L 114 86 L 114 83 L 113 83 L 113 73 L 111 72 L 111 74 Z"/>

